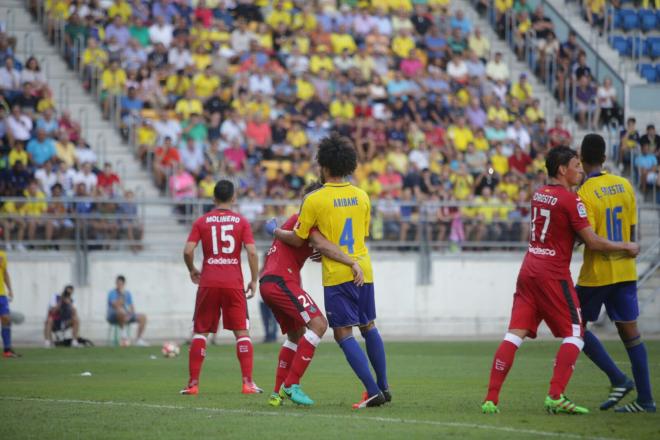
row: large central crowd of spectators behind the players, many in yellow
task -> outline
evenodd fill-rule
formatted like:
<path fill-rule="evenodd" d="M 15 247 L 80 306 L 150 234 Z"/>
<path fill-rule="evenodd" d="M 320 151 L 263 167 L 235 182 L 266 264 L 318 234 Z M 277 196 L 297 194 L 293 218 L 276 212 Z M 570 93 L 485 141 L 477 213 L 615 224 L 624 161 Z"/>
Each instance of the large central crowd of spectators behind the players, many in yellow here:
<path fill-rule="evenodd" d="M 254 199 L 296 199 L 338 131 L 357 147 L 376 239 L 518 241 L 545 153 L 571 140 L 448 0 L 52 0 L 46 12 L 66 21 L 69 61 L 98 82 L 106 116 L 120 103 L 156 185 L 185 203 L 228 176 L 254 221 L 295 210 Z"/>

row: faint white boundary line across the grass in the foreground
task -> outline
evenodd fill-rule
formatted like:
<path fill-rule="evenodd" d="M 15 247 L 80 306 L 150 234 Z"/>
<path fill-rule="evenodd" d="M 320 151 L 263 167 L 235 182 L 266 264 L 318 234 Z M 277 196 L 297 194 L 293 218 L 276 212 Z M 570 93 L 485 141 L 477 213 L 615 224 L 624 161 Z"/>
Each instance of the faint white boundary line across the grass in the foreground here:
<path fill-rule="evenodd" d="M 98 400 L 75 400 L 75 399 L 42 399 L 32 397 L 11 397 L 0 396 L 0 401 L 15 401 L 15 402 L 42 402 L 42 403 L 61 403 L 72 405 L 96 405 L 96 406 L 129 406 L 134 408 L 150 408 L 150 409 L 171 409 L 171 410 L 191 410 L 201 411 L 216 414 L 237 414 L 237 415 L 257 415 L 257 416 L 271 416 L 271 417 L 305 417 L 305 418 L 318 418 L 318 419 L 343 419 L 350 421 L 369 421 L 381 422 L 392 424 L 411 424 L 411 425 L 427 425 L 439 426 L 445 428 L 462 428 L 462 429 L 481 429 L 485 431 L 499 431 L 509 432 L 514 434 L 527 434 L 542 437 L 561 437 L 571 439 L 589 439 L 589 440 L 618 440 L 612 437 L 588 437 L 577 434 L 569 434 L 565 432 L 553 431 L 538 431 L 534 429 L 519 429 L 508 426 L 497 425 L 482 425 L 478 423 L 462 423 L 462 422 L 439 422 L 435 420 L 418 420 L 418 419 L 398 419 L 392 417 L 376 417 L 376 416 L 349 416 L 343 414 L 316 414 L 310 412 L 291 412 L 291 411 L 253 411 L 248 409 L 232 409 L 232 408 L 210 408 L 210 407 L 194 407 L 194 406 L 179 406 L 179 405 L 158 405 L 151 403 L 136 403 L 136 402 L 114 402 L 114 401 L 98 401 Z"/>

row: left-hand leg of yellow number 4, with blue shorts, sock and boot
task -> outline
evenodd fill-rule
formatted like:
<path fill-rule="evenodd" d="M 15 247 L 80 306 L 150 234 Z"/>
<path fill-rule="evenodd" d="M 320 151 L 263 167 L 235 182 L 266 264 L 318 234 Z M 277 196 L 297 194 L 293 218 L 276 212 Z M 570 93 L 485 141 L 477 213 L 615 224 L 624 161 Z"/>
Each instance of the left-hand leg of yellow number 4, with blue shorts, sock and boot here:
<path fill-rule="evenodd" d="M 357 286 L 349 282 L 325 287 L 324 297 L 328 322 L 333 329 L 335 341 L 369 395 L 358 407 L 382 405 L 385 403 L 385 397 L 371 374 L 369 359 L 353 337 L 353 326 L 360 322 Z"/>

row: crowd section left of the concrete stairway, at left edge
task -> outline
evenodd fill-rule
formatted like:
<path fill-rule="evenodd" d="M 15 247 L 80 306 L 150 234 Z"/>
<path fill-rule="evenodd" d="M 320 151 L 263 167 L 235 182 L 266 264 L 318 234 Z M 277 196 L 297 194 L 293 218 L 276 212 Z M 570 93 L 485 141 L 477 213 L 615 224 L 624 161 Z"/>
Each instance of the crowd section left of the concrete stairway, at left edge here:
<path fill-rule="evenodd" d="M 37 59 L 17 59 L 15 45 L 0 31 L 0 197 L 11 198 L 0 203 L 6 245 L 24 250 L 24 240 L 33 247 L 35 240 L 72 238 L 78 222 L 90 239 L 138 239 L 133 194 L 124 193 L 111 164 L 97 167 L 78 123 L 55 108 Z M 92 201 L 72 202 L 72 196 Z"/>

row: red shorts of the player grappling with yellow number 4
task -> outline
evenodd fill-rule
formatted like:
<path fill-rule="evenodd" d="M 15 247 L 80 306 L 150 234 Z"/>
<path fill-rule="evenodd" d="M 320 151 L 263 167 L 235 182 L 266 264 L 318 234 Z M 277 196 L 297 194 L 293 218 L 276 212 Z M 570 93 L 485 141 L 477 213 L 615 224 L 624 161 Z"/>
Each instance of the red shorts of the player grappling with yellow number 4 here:
<path fill-rule="evenodd" d="M 298 283 L 266 275 L 259 282 L 259 292 L 273 311 L 282 334 L 304 327 L 316 316 L 323 316 L 312 297 Z"/>

